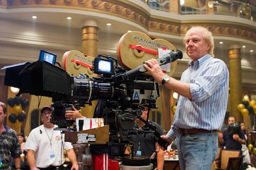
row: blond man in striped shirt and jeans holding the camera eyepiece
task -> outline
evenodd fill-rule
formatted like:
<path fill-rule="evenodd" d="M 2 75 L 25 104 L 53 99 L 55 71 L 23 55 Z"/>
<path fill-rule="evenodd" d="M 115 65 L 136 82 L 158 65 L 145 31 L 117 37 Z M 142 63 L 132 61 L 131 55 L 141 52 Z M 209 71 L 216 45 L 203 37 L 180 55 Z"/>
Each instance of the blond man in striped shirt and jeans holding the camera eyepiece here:
<path fill-rule="evenodd" d="M 181 169 L 211 169 L 226 114 L 229 71 L 222 60 L 213 58 L 214 41 L 207 28 L 193 26 L 183 41 L 192 61 L 181 80 L 164 73 L 155 59 L 143 67 L 156 82 L 179 94 L 173 125 L 162 138 L 169 144 L 177 140 Z"/>

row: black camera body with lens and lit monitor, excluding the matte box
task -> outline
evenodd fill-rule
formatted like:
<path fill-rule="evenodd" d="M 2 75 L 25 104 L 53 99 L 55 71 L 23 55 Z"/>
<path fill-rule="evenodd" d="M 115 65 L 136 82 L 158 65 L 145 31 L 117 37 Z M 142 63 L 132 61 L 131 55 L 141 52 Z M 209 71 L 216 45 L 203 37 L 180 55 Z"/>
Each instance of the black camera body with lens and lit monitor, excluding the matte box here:
<path fill-rule="evenodd" d="M 72 105 L 84 107 L 92 100 L 106 100 L 106 124 L 110 127 L 110 137 L 116 141 L 129 140 L 129 130 L 134 127 L 135 116 L 142 113 L 141 105 L 150 103 L 156 108 L 159 97 L 158 83 L 151 76 L 132 76 L 126 81 L 116 81 L 116 75 L 126 72 L 117 66 L 117 61 L 109 55 L 98 55 L 93 60 L 93 72 L 99 77 L 87 78 L 70 76 L 70 93 L 53 94 L 54 108 L 52 121 L 60 128 L 68 128 L 74 121 L 66 120 L 65 111 L 73 110 Z"/>

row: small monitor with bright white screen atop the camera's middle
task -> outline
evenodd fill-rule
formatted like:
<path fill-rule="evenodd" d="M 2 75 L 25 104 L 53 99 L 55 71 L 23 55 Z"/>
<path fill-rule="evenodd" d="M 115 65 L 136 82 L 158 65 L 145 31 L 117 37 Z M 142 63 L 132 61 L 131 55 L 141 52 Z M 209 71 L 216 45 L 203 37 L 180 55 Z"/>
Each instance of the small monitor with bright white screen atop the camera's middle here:
<path fill-rule="evenodd" d="M 96 74 L 113 74 L 113 61 L 95 58 L 94 60 L 94 73 Z"/>

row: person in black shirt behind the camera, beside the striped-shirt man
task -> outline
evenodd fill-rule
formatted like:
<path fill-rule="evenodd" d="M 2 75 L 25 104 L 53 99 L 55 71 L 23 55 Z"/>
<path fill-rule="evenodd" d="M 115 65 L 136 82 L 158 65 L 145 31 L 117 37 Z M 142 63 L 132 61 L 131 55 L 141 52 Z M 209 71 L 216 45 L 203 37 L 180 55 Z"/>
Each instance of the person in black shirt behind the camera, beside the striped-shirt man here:
<path fill-rule="evenodd" d="M 142 115 L 140 116 L 142 119 L 147 121 L 148 116 L 148 108 L 143 107 Z M 156 127 L 156 131 L 163 135 L 162 127 L 155 123 L 154 121 L 148 120 L 148 123 L 152 124 Z M 135 129 L 145 130 L 147 128 L 146 124 L 141 121 L 139 118 L 136 118 Z M 150 156 L 151 163 L 154 165 L 154 169 L 163 169 L 164 166 L 164 150 L 156 145 L 157 141 L 155 140 L 153 133 L 142 133 L 142 134 L 134 134 L 132 135 L 132 142 L 134 142 L 134 152 L 140 152 L 139 156 Z"/>

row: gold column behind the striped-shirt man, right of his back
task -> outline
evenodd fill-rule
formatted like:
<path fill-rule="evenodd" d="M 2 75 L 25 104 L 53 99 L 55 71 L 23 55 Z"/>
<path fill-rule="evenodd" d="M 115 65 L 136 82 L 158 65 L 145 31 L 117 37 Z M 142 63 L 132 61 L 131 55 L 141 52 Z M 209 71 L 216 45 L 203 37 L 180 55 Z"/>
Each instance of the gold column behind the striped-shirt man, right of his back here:
<path fill-rule="evenodd" d="M 236 121 L 243 121 L 237 106 L 242 101 L 242 69 L 241 69 L 241 50 L 234 46 L 229 49 L 229 87 L 231 96 L 231 115 Z"/>

